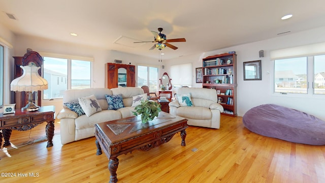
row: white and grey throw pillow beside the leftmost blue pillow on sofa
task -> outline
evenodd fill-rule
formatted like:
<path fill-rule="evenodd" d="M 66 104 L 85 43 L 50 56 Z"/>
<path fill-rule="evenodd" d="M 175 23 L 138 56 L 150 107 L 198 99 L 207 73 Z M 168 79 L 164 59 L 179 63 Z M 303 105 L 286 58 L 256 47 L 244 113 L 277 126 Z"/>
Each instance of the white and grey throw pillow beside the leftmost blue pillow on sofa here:
<path fill-rule="evenodd" d="M 82 110 L 88 117 L 96 112 L 102 111 L 100 103 L 97 101 L 94 95 L 89 97 L 80 97 L 78 100 Z"/>

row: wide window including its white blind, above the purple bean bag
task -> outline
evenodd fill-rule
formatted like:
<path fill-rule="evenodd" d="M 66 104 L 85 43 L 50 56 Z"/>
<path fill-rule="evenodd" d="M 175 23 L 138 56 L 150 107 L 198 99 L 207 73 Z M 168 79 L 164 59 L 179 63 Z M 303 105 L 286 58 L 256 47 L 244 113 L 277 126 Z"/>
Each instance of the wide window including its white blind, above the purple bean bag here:
<path fill-rule="evenodd" d="M 275 93 L 325 94 L 325 42 L 272 50 L 270 57 Z"/>

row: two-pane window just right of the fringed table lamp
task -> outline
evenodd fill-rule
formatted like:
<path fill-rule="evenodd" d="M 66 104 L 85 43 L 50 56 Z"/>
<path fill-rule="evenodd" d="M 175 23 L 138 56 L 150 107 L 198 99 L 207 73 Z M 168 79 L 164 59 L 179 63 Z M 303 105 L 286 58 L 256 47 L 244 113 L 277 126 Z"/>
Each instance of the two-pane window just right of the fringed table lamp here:
<path fill-rule="evenodd" d="M 43 92 L 43 99 L 63 98 L 64 90 L 91 87 L 89 61 L 44 57 L 43 67 L 43 77 L 49 83 L 48 89 Z"/>

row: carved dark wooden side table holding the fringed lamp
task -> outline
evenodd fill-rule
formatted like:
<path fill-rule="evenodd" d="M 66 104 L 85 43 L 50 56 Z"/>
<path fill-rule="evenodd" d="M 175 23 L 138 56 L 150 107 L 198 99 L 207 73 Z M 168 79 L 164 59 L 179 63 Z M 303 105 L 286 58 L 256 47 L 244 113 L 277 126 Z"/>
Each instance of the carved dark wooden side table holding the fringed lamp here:
<path fill-rule="evenodd" d="M 2 145 L 2 137 L 4 136 L 4 146 L 11 145 L 9 139 L 12 130 L 27 131 L 39 124 L 47 122 L 46 125 L 46 137 L 47 146 L 53 146 L 52 138 L 54 136 L 54 120 L 55 120 L 55 107 L 54 106 L 43 106 L 38 111 L 21 111 L 16 109 L 15 113 L 3 114 L 0 113 L 0 147 Z"/>

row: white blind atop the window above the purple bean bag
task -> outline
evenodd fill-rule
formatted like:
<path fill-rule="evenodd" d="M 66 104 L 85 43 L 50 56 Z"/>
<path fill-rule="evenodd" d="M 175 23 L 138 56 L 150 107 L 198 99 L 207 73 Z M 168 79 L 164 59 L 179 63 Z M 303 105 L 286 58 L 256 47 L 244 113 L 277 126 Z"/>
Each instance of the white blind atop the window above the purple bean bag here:
<path fill-rule="evenodd" d="M 325 54 L 325 43 L 316 43 L 292 48 L 272 50 L 271 60 Z"/>

